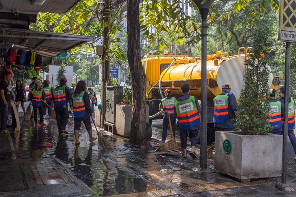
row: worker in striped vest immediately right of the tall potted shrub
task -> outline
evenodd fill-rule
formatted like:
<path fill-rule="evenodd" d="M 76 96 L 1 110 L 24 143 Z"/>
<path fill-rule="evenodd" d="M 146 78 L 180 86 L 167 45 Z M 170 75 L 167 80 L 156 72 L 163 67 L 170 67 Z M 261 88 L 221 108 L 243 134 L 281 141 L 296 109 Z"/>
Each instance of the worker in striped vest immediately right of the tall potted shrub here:
<path fill-rule="evenodd" d="M 271 111 L 269 112 L 269 123 L 272 127 L 272 133 L 281 135 L 282 134 L 282 120 L 281 120 L 281 113 L 282 113 L 282 105 L 281 102 L 275 99 L 275 89 L 270 89 L 268 91 L 269 94 L 269 104 L 271 107 Z"/>

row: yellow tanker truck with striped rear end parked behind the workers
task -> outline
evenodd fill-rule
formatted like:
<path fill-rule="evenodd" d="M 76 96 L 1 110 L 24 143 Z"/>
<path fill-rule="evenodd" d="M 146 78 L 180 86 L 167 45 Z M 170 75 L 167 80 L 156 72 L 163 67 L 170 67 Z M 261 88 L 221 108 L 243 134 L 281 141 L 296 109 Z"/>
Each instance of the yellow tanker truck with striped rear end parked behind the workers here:
<path fill-rule="evenodd" d="M 237 99 L 244 87 L 243 76 L 246 71 L 245 61 L 251 55 L 249 48 L 239 48 L 238 54 L 216 52 L 207 56 L 207 122 L 208 129 L 213 130 L 214 103 L 213 98 L 222 92 L 222 85 L 231 85 Z M 146 55 L 142 60 L 146 74 L 146 96 L 150 106 L 150 123 L 161 117 L 160 101 L 165 89 L 172 90 L 173 97 L 180 97 L 181 85 L 190 85 L 190 95 L 200 100 L 201 95 L 201 58 L 191 58 L 187 55 Z M 270 68 L 269 68 L 270 69 Z M 269 82 L 271 88 L 278 89 L 280 77 L 273 77 L 270 69 Z M 211 132 L 211 131 L 210 131 Z"/>

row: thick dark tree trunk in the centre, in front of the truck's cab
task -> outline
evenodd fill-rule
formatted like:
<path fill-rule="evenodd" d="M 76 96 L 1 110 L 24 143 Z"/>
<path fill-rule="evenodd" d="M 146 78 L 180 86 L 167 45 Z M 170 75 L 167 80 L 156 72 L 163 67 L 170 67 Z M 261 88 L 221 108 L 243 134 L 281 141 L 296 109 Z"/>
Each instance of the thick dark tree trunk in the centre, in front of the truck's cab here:
<path fill-rule="evenodd" d="M 127 58 L 132 79 L 132 121 L 129 143 L 148 146 L 146 131 L 146 75 L 141 63 L 140 48 L 140 0 L 127 1 Z"/>

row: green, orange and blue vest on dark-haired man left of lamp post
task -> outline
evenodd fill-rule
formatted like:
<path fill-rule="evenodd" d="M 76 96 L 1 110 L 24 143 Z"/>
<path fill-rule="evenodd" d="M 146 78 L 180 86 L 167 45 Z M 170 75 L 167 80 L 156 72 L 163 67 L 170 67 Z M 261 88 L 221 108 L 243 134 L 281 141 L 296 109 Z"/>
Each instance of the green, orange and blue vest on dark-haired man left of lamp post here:
<path fill-rule="evenodd" d="M 189 99 L 175 103 L 179 127 L 183 130 L 194 130 L 199 127 L 200 121 L 198 116 L 195 98 L 190 96 Z"/>

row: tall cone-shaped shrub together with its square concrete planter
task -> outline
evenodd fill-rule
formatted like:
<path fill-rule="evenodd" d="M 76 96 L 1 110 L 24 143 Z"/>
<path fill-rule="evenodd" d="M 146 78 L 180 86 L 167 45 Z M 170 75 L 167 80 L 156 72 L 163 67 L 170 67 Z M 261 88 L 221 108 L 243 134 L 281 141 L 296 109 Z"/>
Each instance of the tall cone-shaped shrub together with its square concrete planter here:
<path fill-rule="evenodd" d="M 249 181 L 281 176 L 282 136 L 270 134 L 269 68 L 264 57 L 266 37 L 257 31 L 253 55 L 247 58 L 245 87 L 236 111 L 237 131 L 216 132 L 215 168 L 217 171 Z M 265 45 L 266 46 L 266 45 Z"/>

